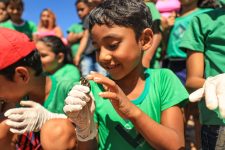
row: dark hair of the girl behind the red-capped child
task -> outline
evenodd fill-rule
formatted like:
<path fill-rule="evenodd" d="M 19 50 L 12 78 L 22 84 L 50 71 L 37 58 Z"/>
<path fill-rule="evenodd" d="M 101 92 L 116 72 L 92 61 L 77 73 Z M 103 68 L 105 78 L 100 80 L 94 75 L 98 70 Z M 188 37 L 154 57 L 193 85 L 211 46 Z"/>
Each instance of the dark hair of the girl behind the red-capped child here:
<path fill-rule="evenodd" d="M 63 53 L 64 54 L 64 64 L 73 63 L 72 61 L 72 54 L 71 50 L 68 46 L 65 46 L 65 44 L 62 42 L 62 40 L 53 35 L 44 36 L 43 38 L 39 39 L 38 41 L 41 41 L 45 43 L 48 47 L 52 49 L 52 51 L 55 54 Z"/>

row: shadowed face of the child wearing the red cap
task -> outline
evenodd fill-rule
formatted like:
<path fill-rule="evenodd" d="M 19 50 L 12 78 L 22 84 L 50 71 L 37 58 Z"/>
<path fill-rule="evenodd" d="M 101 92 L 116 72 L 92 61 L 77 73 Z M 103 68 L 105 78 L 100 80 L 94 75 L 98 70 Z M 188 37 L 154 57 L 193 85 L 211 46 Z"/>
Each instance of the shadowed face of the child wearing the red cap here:
<path fill-rule="evenodd" d="M 0 83 L 0 100 L 19 102 L 26 95 L 21 84 L 8 80 L 3 75 L 0 75 Z"/>

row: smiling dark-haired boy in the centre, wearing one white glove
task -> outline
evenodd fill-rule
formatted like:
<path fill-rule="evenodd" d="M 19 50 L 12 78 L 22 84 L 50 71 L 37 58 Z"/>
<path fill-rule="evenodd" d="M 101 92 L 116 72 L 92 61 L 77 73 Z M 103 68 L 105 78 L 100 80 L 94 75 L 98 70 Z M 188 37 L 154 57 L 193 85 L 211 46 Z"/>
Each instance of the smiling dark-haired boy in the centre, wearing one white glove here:
<path fill-rule="evenodd" d="M 142 64 L 153 38 L 145 3 L 105 0 L 92 10 L 89 23 L 97 60 L 109 76 L 92 72 L 90 88 L 75 85 L 65 100 L 78 147 L 96 148 L 98 130 L 98 149 L 184 148 L 180 107 L 188 93 L 171 71 Z"/>

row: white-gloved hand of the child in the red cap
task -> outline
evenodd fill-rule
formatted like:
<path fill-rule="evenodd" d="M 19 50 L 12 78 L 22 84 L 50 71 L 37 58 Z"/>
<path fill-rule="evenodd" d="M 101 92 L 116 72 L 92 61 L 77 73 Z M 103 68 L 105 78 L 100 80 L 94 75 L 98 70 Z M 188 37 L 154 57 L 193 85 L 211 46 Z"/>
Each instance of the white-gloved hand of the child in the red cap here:
<path fill-rule="evenodd" d="M 64 114 L 56 114 L 48 111 L 39 103 L 34 101 L 21 101 L 20 108 L 12 108 L 5 112 L 6 124 L 10 126 L 13 133 L 40 131 L 42 125 L 49 119 L 67 118 Z"/>

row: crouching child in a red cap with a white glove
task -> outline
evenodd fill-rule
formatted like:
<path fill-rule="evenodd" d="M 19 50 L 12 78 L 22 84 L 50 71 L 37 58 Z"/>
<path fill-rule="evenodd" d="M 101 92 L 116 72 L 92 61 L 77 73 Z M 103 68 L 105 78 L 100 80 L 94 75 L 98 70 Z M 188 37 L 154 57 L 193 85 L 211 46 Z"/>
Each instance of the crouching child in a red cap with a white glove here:
<path fill-rule="evenodd" d="M 0 28 L 0 41 L 0 146 L 42 149 L 39 136 L 48 133 L 32 131 L 40 131 L 49 119 L 67 118 L 63 114 L 64 99 L 74 83 L 43 75 L 39 53 L 25 34 Z M 19 102 L 25 107 L 18 107 Z M 75 147 L 75 138 L 68 141 L 61 136 L 67 133 L 56 130 L 55 144 L 50 145 L 55 147 L 49 149 Z M 75 137 L 75 131 L 70 132 Z"/>

